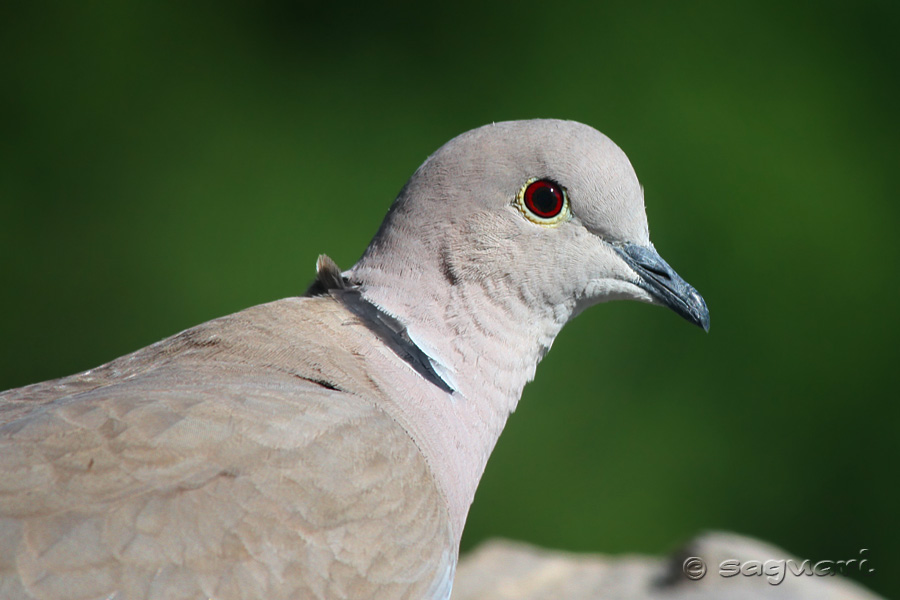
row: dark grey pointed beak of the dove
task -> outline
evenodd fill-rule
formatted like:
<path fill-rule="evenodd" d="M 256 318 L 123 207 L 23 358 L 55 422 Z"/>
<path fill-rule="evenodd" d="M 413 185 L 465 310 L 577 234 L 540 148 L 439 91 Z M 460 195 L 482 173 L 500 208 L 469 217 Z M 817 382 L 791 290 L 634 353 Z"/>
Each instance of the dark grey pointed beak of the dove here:
<path fill-rule="evenodd" d="M 703 297 L 656 253 L 656 250 L 637 244 L 614 246 L 640 279 L 637 285 L 674 310 L 676 313 L 709 331 L 709 309 Z"/>

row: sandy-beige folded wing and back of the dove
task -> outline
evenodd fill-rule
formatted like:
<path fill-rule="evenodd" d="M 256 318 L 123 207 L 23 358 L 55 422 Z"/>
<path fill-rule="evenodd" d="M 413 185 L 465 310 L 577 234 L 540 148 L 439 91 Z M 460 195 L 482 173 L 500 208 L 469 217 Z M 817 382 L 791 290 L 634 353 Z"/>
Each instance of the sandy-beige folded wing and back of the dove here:
<path fill-rule="evenodd" d="M 282 301 L 0 395 L 0 597 L 449 595 L 428 465 L 323 346 L 350 320 Z"/>

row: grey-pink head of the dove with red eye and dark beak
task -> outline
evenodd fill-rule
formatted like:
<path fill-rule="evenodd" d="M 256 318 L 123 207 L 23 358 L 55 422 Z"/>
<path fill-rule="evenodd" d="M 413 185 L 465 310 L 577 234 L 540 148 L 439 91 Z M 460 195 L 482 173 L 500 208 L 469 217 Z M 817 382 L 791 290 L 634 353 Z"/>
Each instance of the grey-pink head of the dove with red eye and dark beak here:
<path fill-rule="evenodd" d="M 451 285 L 506 290 L 569 316 L 633 299 L 709 328 L 703 298 L 650 242 L 628 157 L 581 123 L 510 121 L 454 138 L 403 188 L 367 257 L 385 252 L 407 273 L 436 261 Z"/>

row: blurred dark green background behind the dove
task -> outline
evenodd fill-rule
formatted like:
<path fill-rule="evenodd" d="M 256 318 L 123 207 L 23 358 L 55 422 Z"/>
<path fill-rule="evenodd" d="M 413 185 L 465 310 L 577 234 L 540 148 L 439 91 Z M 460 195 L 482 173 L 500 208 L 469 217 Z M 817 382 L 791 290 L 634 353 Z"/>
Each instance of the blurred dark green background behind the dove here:
<path fill-rule="evenodd" d="M 900 596 L 898 8 L 4 3 L 0 388 L 297 295 L 454 135 L 575 119 L 630 156 L 712 329 L 618 303 L 563 331 L 464 549 L 721 528 L 869 548 L 856 578 Z"/>

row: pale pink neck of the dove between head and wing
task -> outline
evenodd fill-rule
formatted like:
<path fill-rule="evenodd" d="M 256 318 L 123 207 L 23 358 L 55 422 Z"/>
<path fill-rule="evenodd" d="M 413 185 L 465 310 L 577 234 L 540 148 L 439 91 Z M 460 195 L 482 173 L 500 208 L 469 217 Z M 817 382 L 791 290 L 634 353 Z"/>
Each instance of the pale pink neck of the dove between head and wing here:
<path fill-rule="evenodd" d="M 504 281 L 459 280 L 441 264 L 382 262 L 369 253 L 347 275 L 406 328 L 452 388 L 423 378 L 387 410 L 402 413 L 397 420 L 423 449 L 461 535 L 506 420 L 572 311 L 542 308 Z"/>

